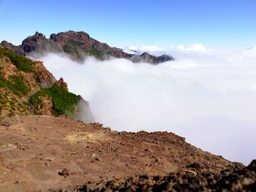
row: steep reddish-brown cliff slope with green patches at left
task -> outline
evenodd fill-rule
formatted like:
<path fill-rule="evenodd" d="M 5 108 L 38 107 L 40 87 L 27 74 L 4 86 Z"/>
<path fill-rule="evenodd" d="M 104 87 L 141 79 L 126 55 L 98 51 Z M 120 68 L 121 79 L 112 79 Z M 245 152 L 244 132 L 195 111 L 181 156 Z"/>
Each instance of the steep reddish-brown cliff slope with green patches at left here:
<path fill-rule="evenodd" d="M 1 47 L 0 91 L 0 118 L 20 115 L 79 117 L 81 98 L 69 93 L 62 78 L 57 81 L 41 61 L 31 61 Z M 83 107 L 88 108 L 92 117 L 86 101 L 80 106 Z"/>

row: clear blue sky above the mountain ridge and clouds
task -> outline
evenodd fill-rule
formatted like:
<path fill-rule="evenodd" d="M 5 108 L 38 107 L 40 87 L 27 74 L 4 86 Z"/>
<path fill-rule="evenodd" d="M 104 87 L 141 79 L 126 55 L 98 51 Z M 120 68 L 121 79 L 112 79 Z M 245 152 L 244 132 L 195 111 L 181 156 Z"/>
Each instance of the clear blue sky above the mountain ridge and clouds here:
<path fill-rule="evenodd" d="M 0 0 L 0 41 L 86 31 L 111 46 L 256 45 L 256 0 Z"/>

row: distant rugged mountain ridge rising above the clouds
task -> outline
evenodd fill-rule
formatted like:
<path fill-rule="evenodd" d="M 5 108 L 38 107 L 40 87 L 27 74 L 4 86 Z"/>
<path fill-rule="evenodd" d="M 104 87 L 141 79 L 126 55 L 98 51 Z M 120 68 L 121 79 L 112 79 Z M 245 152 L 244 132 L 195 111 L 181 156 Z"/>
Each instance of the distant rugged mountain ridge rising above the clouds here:
<path fill-rule="evenodd" d="M 45 35 L 36 32 L 33 36 L 27 37 L 19 46 L 10 42 L 1 42 L 1 47 L 8 47 L 18 55 L 42 55 L 44 53 L 67 53 L 75 61 L 83 61 L 86 55 L 93 55 L 100 60 L 113 58 L 127 58 L 132 62 L 146 62 L 159 64 L 165 61 L 173 61 L 170 55 L 159 57 L 143 53 L 141 55 L 125 53 L 117 47 L 110 47 L 93 39 L 83 31 L 67 31 L 59 34 L 51 34 L 50 39 Z"/>

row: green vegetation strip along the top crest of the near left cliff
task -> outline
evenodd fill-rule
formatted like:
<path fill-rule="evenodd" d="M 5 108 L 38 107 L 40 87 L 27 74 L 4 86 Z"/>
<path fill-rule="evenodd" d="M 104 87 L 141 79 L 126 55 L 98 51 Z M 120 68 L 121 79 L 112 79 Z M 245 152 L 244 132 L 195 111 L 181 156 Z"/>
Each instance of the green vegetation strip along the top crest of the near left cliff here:
<path fill-rule="evenodd" d="M 0 47 L 0 56 L 6 55 L 12 61 L 12 64 L 17 66 L 18 70 L 23 72 L 31 72 L 34 61 L 29 58 L 17 55 L 12 50 Z"/>

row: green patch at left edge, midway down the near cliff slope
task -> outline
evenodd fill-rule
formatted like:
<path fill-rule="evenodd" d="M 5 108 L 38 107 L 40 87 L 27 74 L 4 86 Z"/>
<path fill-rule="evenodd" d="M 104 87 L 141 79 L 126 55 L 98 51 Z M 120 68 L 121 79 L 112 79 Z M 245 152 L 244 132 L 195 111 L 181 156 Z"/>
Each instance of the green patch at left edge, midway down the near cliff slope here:
<path fill-rule="evenodd" d="M 0 87 L 8 88 L 12 93 L 18 96 L 23 96 L 29 92 L 29 88 L 24 84 L 23 77 L 12 75 L 10 80 L 5 79 L 4 74 L 0 72 Z"/>

